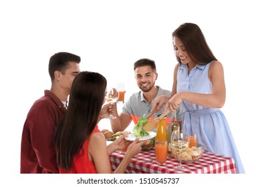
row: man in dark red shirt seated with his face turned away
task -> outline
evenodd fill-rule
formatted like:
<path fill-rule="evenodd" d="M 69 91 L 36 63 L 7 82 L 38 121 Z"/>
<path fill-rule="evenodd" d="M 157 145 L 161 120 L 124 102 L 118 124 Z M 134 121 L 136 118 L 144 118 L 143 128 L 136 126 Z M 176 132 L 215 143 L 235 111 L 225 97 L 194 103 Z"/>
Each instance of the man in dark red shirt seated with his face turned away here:
<path fill-rule="evenodd" d="M 66 52 L 55 53 L 49 59 L 51 89 L 33 104 L 23 126 L 21 173 L 59 173 L 55 127 L 66 112 L 72 81 L 80 73 L 80 61 L 79 56 Z"/>

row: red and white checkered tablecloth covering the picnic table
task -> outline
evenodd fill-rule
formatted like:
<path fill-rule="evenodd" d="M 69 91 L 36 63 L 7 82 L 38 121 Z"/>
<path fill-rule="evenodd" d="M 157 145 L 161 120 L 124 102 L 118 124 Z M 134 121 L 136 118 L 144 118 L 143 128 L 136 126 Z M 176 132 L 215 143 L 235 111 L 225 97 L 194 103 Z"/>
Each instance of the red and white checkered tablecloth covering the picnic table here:
<path fill-rule="evenodd" d="M 120 162 L 124 158 L 124 154 L 120 151 L 113 152 L 110 155 L 112 170 L 116 170 Z M 152 160 L 152 161 L 150 161 Z M 146 162 L 150 161 L 150 162 Z M 156 155 L 154 149 L 142 151 L 134 156 L 130 161 L 126 173 L 129 174 L 235 174 L 237 169 L 233 158 L 204 152 L 203 156 L 193 164 L 182 163 L 186 166 L 185 170 L 176 170 L 174 166 L 178 165 L 178 161 L 174 158 L 167 158 L 165 166 L 156 164 Z"/>

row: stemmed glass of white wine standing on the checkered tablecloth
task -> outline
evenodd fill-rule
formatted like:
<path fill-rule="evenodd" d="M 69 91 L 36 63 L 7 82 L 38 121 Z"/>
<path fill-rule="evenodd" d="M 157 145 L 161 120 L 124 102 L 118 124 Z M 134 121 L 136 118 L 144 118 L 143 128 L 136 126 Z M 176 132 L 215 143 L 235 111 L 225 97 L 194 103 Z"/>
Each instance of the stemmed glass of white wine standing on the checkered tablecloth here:
<path fill-rule="evenodd" d="M 184 170 L 185 166 L 181 164 L 181 152 L 189 146 L 190 138 L 187 133 L 182 133 L 180 130 L 174 130 L 172 136 L 170 137 L 170 148 L 173 150 L 178 150 L 179 154 L 179 164 L 174 168 L 178 170 Z"/>

